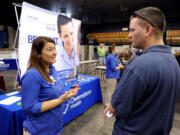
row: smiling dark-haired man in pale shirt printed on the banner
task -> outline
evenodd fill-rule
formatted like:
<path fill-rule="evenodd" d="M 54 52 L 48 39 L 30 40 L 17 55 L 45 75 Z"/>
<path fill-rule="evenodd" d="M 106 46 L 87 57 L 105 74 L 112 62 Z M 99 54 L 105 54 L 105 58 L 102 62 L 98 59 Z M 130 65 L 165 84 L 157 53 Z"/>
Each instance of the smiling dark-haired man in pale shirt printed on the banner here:
<path fill-rule="evenodd" d="M 79 65 L 79 51 L 77 50 L 79 47 L 75 45 L 72 19 L 59 14 L 57 26 L 62 45 L 57 48 L 58 55 L 55 67 L 58 71 L 72 69 Z"/>

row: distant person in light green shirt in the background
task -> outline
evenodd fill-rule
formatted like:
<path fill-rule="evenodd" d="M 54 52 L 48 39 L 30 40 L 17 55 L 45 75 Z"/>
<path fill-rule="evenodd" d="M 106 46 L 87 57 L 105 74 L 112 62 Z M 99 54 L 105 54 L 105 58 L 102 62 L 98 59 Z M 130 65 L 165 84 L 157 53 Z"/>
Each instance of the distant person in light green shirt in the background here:
<path fill-rule="evenodd" d="M 99 47 L 97 49 L 97 54 L 98 54 L 98 60 L 100 61 L 100 64 L 105 64 L 106 63 L 105 48 L 103 47 L 103 43 L 99 44 Z"/>

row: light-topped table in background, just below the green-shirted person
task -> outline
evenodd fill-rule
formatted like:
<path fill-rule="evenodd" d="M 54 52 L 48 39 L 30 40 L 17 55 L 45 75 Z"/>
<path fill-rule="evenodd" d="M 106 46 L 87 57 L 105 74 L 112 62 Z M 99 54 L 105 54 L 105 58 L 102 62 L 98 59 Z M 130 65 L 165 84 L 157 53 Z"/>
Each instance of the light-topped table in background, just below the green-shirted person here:
<path fill-rule="evenodd" d="M 95 73 L 95 66 L 97 65 L 97 63 L 99 62 L 99 60 L 84 60 L 84 61 L 80 61 L 79 64 L 81 66 L 81 73 L 83 70 L 83 65 L 88 64 L 88 69 L 85 71 L 85 73 L 89 73 L 89 74 L 94 74 Z"/>

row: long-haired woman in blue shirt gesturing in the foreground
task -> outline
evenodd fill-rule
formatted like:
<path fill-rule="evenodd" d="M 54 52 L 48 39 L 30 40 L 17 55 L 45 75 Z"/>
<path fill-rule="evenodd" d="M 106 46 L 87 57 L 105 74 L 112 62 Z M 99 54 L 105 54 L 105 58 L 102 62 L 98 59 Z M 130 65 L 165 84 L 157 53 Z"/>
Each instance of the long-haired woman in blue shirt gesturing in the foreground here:
<path fill-rule="evenodd" d="M 55 42 L 37 37 L 32 44 L 28 70 L 22 77 L 23 123 L 27 135 L 59 135 L 63 131 L 62 103 L 75 96 L 78 85 L 64 93 L 64 83 L 57 80 Z"/>

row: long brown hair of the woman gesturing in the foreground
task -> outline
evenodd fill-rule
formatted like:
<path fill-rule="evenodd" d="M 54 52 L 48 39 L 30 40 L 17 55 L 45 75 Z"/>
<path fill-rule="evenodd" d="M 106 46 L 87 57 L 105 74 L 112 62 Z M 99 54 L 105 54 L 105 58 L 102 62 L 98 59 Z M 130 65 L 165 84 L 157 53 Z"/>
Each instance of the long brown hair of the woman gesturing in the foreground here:
<path fill-rule="evenodd" d="M 53 83 L 53 80 L 50 79 L 48 73 L 45 70 L 45 67 L 42 63 L 42 59 L 39 57 L 39 55 L 42 53 L 42 49 L 43 49 L 44 45 L 47 42 L 51 42 L 51 43 L 55 44 L 54 40 L 49 37 L 39 36 L 34 39 L 34 41 L 32 43 L 32 49 L 31 49 L 28 69 L 30 69 L 32 67 L 36 68 L 47 82 Z"/>

